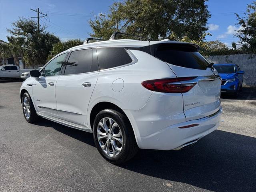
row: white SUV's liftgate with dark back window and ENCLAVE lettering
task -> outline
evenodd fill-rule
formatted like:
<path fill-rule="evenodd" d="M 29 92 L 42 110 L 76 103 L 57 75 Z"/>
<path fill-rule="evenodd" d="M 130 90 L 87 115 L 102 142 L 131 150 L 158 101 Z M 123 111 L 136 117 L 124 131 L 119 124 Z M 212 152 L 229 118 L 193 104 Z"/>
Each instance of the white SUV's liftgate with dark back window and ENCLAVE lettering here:
<path fill-rule="evenodd" d="M 196 45 L 164 43 L 152 47 L 154 56 L 165 61 L 178 78 L 194 77 L 181 82 L 194 86 L 182 93 L 187 121 L 204 118 L 220 109 L 221 80 L 215 70 L 207 67 L 209 62 L 198 52 Z"/>

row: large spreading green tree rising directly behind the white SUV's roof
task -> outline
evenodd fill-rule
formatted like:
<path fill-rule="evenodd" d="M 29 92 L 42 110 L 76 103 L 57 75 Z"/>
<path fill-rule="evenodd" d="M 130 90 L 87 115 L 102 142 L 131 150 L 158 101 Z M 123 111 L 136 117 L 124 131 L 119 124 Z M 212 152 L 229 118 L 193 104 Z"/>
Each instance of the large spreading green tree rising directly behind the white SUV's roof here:
<path fill-rule="evenodd" d="M 145 36 L 153 40 L 170 38 L 175 33 L 198 40 L 208 29 L 207 0 L 125 0 L 114 3 L 108 14 L 89 20 L 91 36 L 110 38 L 113 31 Z"/>

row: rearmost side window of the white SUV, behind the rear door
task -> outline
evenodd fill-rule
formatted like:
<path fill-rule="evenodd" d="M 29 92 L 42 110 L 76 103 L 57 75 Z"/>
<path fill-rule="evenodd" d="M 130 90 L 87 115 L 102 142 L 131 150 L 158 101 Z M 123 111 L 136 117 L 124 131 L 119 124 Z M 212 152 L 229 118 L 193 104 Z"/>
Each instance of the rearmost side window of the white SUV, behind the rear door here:
<path fill-rule="evenodd" d="M 124 48 L 97 48 L 100 70 L 125 65 L 132 62 Z"/>

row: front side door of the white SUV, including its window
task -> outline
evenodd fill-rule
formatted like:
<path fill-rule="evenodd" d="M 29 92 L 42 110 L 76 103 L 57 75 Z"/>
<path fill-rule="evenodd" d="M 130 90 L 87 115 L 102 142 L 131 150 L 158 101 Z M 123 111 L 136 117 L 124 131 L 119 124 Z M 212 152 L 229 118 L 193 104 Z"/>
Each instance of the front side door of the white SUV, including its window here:
<path fill-rule="evenodd" d="M 58 117 L 56 111 L 55 87 L 67 53 L 51 60 L 41 71 L 42 76 L 33 82 L 33 98 L 41 115 Z"/>

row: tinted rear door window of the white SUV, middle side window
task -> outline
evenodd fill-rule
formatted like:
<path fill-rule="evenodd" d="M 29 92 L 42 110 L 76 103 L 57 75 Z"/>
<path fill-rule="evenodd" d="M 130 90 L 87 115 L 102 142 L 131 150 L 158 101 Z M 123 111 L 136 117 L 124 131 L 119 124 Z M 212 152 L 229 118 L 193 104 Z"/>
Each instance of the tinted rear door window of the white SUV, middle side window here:
<path fill-rule="evenodd" d="M 91 71 L 92 49 L 73 51 L 70 54 L 64 74 L 80 74 Z"/>

